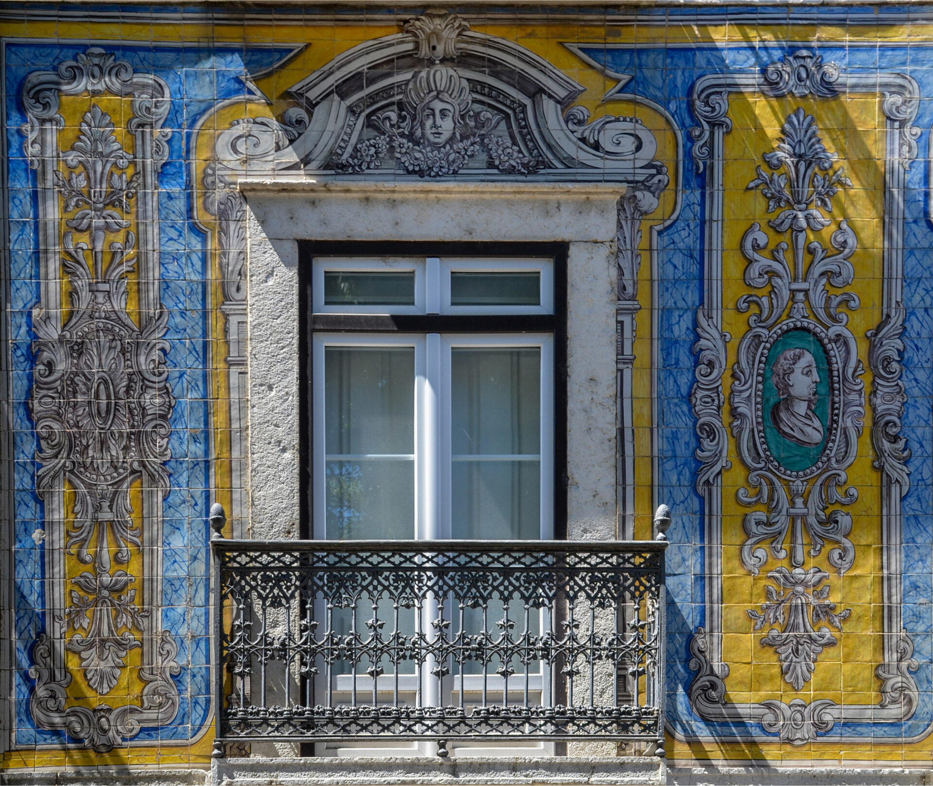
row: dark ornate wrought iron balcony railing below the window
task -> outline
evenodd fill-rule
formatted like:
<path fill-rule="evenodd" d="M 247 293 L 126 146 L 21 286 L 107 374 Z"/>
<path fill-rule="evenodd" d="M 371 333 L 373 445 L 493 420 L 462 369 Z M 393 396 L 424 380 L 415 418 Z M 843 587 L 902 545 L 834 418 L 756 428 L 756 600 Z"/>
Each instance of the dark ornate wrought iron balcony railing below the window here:
<path fill-rule="evenodd" d="M 536 738 L 663 755 L 666 543 L 212 546 L 218 751 Z"/>

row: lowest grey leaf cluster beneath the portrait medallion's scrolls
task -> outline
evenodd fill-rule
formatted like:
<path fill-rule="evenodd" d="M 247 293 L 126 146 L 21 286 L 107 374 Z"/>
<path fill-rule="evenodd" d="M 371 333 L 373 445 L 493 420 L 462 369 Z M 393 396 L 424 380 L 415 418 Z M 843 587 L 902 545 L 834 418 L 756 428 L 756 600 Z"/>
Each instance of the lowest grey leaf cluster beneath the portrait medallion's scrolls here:
<path fill-rule="evenodd" d="M 836 637 L 822 622 L 842 630 L 842 622 L 851 614 L 850 609 L 836 613 L 836 604 L 829 602 L 829 585 L 820 585 L 829 573 L 818 568 L 804 572 L 802 568 L 778 568 L 768 573 L 780 588 L 765 586 L 768 602 L 761 604 L 761 612 L 748 610 L 755 622 L 755 630 L 765 625 L 772 627 L 761 643 L 773 647 L 781 660 L 784 681 L 802 690 L 810 682 L 817 656 L 827 647 L 834 647 Z M 812 618 L 812 622 L 811 622 Z"/>

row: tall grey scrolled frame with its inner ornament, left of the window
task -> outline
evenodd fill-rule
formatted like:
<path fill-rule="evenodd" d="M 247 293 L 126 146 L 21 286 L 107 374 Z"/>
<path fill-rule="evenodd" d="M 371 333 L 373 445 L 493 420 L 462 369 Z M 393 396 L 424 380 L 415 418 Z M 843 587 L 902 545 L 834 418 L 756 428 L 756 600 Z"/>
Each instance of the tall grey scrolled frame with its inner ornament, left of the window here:
<path fill-rule="evenodd" d="M 60 152 L 61 99 L 85 92 L 91 108 L 77 140 Z M 130 99 L 125 130 L 99 96 Z M 160 622 L 161 509 L 175 401 L 165 365 L 155 188 L 168 155 L 169 132 L 161 126 L 170 96 L 159 77 L 89 48 L 57 72 L 30 76 L 22 101 L 42 238 L 30 408 L 39 446 L 36 491 L 46 511 L 34 536 L 44 549 L 46 608 L 29 669 L 30 710 L 39 728 L 107 752 L 143 726 L 171 723 L 180 704 L 173 679 L 180 673 L 178 642 Z M 121 138 L 132 139 L 132 151 Z M 64 323 L 60 263 L 70 291 Z M 139 324 L 128 310 L 132 273 Z M 137 483 L 141 509 L 134 519 Z M 66 504 L 66 489 L 73 503 Z M 141 574 L 128 570 L 136 555 Z M 69 559 L 81 566 L 70 580 Z M 78 676 L 98 696 L 110 694 L 136 649 L 138 703 L 67 705 Z M 65 651 L 78 655 L 79 675 L 67 667 Z"/>

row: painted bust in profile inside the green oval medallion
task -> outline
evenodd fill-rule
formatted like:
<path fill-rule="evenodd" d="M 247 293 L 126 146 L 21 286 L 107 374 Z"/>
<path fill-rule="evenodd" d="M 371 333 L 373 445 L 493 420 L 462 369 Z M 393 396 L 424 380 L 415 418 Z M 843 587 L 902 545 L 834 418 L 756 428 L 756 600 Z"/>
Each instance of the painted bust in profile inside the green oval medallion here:
<path fill-rule="evenodd" d="M 823 424 L 816 417 L 819 373 L 814 356 L 803 349 L 785 350 L 771 370 L 781 400 L 772 407 L 771 421 L 778 434 L 798 445 L 814 448 L 823 441 Z"/>

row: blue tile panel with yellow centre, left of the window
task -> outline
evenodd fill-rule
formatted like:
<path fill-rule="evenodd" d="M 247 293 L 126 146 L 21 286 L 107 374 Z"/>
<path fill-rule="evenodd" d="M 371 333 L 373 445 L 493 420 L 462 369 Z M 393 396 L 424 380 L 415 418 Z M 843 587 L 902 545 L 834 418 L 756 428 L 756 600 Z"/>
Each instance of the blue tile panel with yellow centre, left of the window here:
<path fill-rule="evenodd" d="M 209 66 L 200 78 L 176 69 L 183 53 Z M 7 42 L 5 54 L 10 742 L 188 744 L 211 719 L 212 471 L 209 257 L 187 218 L 185 129 L 243 94 L 243 53 Z"/>

